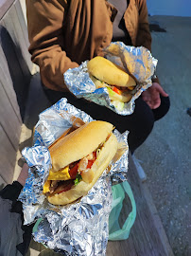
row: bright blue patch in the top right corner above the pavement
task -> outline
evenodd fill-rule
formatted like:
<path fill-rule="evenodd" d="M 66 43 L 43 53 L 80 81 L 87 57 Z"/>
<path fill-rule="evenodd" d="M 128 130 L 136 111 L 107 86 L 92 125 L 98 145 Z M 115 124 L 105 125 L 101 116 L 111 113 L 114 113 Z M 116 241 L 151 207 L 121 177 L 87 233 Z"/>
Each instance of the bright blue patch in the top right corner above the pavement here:
<path fill-rule="evenodd" d="M 191 17 L 191 0 L 147 0 L 148 14 Z"/>

